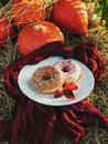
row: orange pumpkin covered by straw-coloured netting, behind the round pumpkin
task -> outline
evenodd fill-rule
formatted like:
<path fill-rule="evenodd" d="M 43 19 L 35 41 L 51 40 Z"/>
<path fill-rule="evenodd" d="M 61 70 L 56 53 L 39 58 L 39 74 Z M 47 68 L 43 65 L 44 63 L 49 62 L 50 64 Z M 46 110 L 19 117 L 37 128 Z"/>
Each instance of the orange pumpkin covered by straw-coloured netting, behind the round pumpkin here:
<path fill-rule="evenodd" d="M 11 9 L 11 19 L 20 29 L 30 22 L 45 18 L 43 0 L 14 0 Z"/>

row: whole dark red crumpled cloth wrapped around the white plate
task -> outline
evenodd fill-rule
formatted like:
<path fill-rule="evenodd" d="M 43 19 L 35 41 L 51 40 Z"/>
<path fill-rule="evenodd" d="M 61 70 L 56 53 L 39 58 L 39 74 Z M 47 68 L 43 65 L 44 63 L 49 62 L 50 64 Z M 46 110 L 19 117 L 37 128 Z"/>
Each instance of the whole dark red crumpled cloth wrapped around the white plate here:
<path fill-rule="evenodd" d="M 61 55 L 64 59 L 75 58 L 85 63 L 100 81 L 106 70 L 106 64 L 100 58 L 96 44 L 84 41 L 72 52 L 62 42 L 48 43 L 33 53 L 19 58 L 6 69 L 4 88 L 14 100 L 12 119 L 0 121 L 0 141 L 15 144 L 19 137 L 26 136 L 29 144 L 50 144 L 54 132 L 71 138 L 75 144 L 85 134 L 85 126 L 95 124 L 108 131 L 108 119 L 93 104 L 83 100 L 67 106 L 46 106 L 28 99 L 19 89 L 18 75 L 25 64 L 34 64 L 47 56 Z"/>

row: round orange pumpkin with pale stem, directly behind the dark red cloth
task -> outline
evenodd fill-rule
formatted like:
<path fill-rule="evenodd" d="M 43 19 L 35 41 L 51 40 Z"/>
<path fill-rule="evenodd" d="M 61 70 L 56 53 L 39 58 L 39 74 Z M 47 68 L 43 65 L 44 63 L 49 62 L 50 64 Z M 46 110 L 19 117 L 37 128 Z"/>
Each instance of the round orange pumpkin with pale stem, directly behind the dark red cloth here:
<path fill-rule="evenodd" d="M 64 35 L 55 24 L 48 21 L 33 22 L 19 32 L 18 49 L 22 55 L 26 55 L 35 49 L 54 41 L 64 42 Z"/>

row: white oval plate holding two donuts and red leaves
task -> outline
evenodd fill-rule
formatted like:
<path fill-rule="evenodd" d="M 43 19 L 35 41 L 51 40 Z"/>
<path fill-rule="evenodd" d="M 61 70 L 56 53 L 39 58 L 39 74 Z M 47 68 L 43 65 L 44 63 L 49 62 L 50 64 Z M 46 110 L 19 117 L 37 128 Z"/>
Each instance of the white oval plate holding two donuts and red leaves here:
<path fill-rule="evenodd" d="M 68 105 L 68 104 L 74 104 L 77 103 L 82 100 L 84 100 L 94 89 L 95 84 L 95 79 L 90 70 L 83 63 L 80 63 L 77 60 L 69 59 L 73 61 L 76 61 L 82 69 L 82 76 L 77 81 L 78 89 L 74 91 L 75 93 L 75 100 L 69 100 L 66 99 L 65 96 L 54 99 L 54 94 L 43 94 L 37 92 L 33 85 L 31 84 L 31 78 L 32 74 L 36 69 L 39 69 L 42 65 L 47 65 L 47 64 L 55 64 L 56 62 L 63 60 L 62 56 L 51 56 L 47 58 L 37 64 L 33 65 L 24 65 L 18 78 L 18 83 L 21 89 L 21 91 L 31 100 L 39 102 L 41 104 L 45 105 L 52 105 L 52 106 L 62 106 L 62 105 Z"/>

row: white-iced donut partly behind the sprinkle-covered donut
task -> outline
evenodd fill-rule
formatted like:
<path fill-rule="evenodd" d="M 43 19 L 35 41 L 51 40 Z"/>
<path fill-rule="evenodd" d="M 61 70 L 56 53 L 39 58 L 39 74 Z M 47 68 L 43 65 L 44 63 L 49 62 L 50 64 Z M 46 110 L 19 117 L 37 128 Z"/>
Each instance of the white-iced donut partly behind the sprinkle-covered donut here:
<path fill-rule="evenodd" d="M 64 83 L 75 83 L 80 76 L 80 66 L 73 60 L 62 60 L 55 66 L 64 73 Z"/>

